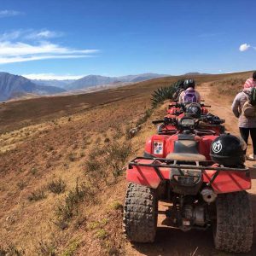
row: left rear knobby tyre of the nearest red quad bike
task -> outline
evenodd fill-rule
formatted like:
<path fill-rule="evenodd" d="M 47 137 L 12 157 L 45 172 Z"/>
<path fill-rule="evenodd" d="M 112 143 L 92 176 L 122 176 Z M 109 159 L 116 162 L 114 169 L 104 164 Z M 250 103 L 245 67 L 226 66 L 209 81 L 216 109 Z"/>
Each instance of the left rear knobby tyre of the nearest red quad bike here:
<path fill-rule="evenodd" d="M 158 216 L 154 189 L 129 183 L 125 196 L 124 231 L 130 241 L 153 242 Z"/>

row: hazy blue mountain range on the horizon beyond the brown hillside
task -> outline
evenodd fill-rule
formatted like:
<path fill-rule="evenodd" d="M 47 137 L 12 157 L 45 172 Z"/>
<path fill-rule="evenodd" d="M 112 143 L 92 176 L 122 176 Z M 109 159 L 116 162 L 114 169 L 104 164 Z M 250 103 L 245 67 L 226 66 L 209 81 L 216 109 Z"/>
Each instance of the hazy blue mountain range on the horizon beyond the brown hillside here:
<path fill-rule="evenodd" d="M 185 75 L 201 75 L 201 73 L 187 73 Z M 26 94 L 53 95 L 65 91 L 86 90 L 89 87 L 105 85 L 122 85 L 137 83 L 148 79 L 167 77 L 170 75 L 158 73 L 142 73 L 120 77 L 108 77 L 101 75 L 87 75 L 77 80 L 46 80 L 26 79 L 20 75 L 0 72 L 0 101 L 7 101 L 11 98 Z"/>

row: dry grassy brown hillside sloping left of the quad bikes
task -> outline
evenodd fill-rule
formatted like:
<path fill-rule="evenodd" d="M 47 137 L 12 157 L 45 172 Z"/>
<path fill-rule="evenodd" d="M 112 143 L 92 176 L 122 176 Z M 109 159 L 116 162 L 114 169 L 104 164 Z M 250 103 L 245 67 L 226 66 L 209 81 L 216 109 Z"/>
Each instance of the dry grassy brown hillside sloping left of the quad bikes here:
<path fill-rule="evenodd" d="M 237 76 L 195 79 L 217 88 Z M 121 232 L 125 165 L 154 133 L 151 119 L 165 113 L 148 113 L 152 91 L 177 79 L 3 104 L 0 255 L 134 255 Z"/>

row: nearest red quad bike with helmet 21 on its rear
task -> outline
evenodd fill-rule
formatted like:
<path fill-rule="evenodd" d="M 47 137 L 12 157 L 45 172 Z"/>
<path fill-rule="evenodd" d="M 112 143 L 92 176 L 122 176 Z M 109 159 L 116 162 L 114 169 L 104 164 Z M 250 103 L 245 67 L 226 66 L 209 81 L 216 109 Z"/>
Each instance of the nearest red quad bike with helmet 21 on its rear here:
<path fill-rule="evenodd" d="M 253 217 L 244 166 L 245 143 L 230 134 L 197 130 L 195 119 L 173 121 L 173 135 L 153 135 L 143 157 L 126 171 L 124 230 L 130 241 L 154 242 L 158 202 L 168 201 L 162 224 L 180 230 L 212 227 L 215 247 L 250 251 Z"/>

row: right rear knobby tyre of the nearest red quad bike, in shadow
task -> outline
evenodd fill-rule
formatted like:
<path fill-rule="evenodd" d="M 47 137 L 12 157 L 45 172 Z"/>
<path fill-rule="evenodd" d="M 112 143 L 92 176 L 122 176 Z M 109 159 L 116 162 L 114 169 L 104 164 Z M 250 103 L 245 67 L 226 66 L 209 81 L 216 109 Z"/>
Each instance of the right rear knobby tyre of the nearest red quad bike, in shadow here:
<path fill-rule="evenodd" d="M 246 191 L 218 195 L 213 226 L 215 247 L 231 253 L 247 253 L 253 243 L 253 214 Z"/>

